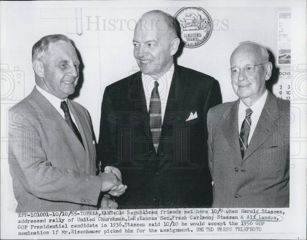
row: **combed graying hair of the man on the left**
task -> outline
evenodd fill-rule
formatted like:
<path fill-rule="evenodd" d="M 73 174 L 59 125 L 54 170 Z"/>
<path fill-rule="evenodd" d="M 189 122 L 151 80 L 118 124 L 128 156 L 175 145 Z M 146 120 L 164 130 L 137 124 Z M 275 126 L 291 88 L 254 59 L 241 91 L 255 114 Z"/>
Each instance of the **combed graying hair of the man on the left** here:
<path fill-rule="evenodd" d="M 42 60 L 48 52 L 50 43 L 64 41 L 72 44 L 72 40 L 63 34 L 53 34 L 42 37 L 32 47 L 32 62 L 34 60 Z"/>

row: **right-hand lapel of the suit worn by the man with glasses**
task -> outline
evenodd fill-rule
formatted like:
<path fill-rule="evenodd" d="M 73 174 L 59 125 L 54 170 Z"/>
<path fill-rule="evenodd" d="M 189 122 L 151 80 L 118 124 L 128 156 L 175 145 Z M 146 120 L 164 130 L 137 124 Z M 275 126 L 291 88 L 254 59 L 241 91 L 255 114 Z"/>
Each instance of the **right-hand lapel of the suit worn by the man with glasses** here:
<path fill-rule="evenodd" d="M 280 118 L 275 97 L 268 91 L 255 132 L 243 157 L 243 162 L 251 156 L 277 129 L 276 120 Z"/>

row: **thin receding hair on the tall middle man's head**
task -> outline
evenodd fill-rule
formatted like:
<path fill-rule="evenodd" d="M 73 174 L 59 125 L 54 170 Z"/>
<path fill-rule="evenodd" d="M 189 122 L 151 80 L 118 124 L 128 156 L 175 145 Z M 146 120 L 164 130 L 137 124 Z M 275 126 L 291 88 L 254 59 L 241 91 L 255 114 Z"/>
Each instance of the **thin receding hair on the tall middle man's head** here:
<path fill-rule="evenodd" d="M 171 39 L 174 39 L 176 37 L 178 37 L 178 32 L 180 32 L 180 25 L 178 23 L 178 21 L 170 14 L 167 14 L 161 10 L 152 10 L 149 11 L 147 13 L 144 13 L 142 15 L 142 17 L 139 19 L 139 21 L 141 19 L 146 18 L 149 15 L 157 15 L 157 16 L 161 16 L 162 19 L 165 22 L 165 25 L 167 27 L 167 31 L 168 31 L 168 35 Z"/>

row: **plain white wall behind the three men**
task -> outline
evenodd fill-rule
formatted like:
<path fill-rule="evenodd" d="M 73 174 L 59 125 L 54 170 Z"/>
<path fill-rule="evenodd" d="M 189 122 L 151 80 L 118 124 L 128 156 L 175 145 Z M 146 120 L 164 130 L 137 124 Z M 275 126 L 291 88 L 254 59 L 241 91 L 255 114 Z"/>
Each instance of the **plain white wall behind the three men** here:
<path fill-rule="evenodd" d="M 214 24 L 211 37 L 198 48 L 184 48 L 178 64 L 216 78 L 221 86 L 223 102 L 227 102 L 236 99 L 228 68 L 231 52 L 239 42 L 251 40 L 262 43 L 277 56 L 276 11 L 280 9 L 278 5 L 287 6 L 284 2 L 277 3 L 262 2 L 263 6 L 258 4 L 259 7 L 242 1 L 164 1 L 157 2 L 156 6 L 151 6 L 153 2 L 140 1 L 130 4 L 126 1 L 2 2 L 1 63 L 8 64 L 10 69 L 17 66 L 25 72 L 24 95 L 28 95 L 35 84 L 31 65 L 32 45 L 48 34 L 66 34 L 75 42 L 84 63 L 84 82 L 80 95 L 74 100 L 89 111 L 98 139 L 105 87 L 138 69 L 133 57 L 132 39 L 134 24 L 143 13 L 159 9 L 174 15 L 184 6 L 200 6 L 209 13 Z M 229 4 L 232 6 L 227 6 Z M 81 36 L 68 33 L 74 20 L 65 19 L 74 17 L 75 7 L 82 7 Z M 99 31 L 95 30 L 95 16 L 99 16 Z M 89 24 L 88 21 L 94 23 Z M 23 94 L 19 95 L 21 98 Z"/>

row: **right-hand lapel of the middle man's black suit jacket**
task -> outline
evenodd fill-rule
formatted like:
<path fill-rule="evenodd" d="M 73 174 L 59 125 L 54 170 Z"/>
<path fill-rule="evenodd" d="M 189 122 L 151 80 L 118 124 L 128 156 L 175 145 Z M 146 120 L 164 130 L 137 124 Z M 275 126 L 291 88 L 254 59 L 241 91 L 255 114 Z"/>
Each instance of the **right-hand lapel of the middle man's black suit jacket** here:
<path fill-rule="evenodd" d="M 189 92 L 188 81 L 185 79 L 183 73 L 175 66 L 174 74 L 169 89 L 169 95 L 167 97 L 167 103 L 163 118 L 162 130 L 160 137 L 164 137 L 170 126 L 173 126 L 175 121 L 170 121 L 170 115 L 177 115 L 177 111 L 180 106 L 185 102 L 185 99 Z"/>

